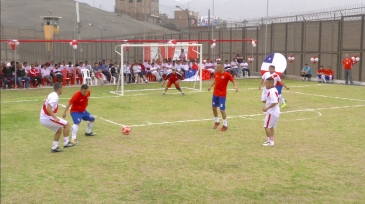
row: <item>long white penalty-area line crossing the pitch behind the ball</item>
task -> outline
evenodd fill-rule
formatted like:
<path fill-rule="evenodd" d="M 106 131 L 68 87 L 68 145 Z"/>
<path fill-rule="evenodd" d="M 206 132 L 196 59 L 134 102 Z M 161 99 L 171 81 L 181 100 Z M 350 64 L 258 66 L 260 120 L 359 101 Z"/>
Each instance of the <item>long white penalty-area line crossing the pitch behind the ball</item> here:
<path fill-rule="evenodd" d="M 340 109 L 340 108 L 358 108 L 358 107 L 364 107 L 365 105 L 356 105 L 356 106 L 343 106 L 343 107 L 328 107 L 328 108 L 315 108 L 315 109 L 302 109 L 302 110 L 292 110 L 292 111 L 285 111 L 282 112 L 283 114 L 285 113 L 295 113 L 295 112 L 310 112 L 310 111 L 316 111 L 316 110 L 330 110 L 330 109 Z M 320 112 L 318 112 L 318 116 L 320 117 L 322 116 L 322 114 Z M 254 117 L 254 116 L 263 116 L 263 113 L 260 114 L 251 114 L 251 115 L 240 115 L 240 116 L 230 116 L 227 117 L 229 119 L 232 118 L 242 118 L 242 117 Z M 107 120 L 104 118 L 100 118 L 101 120 L 104 120 L 106 122 L 115 124 L 115 125 L 119 125 L 119 126 L 124 126 L 123 124 L 119 124 L 117 122 L 111 121 L 111 120 Z M 166 125 L 166 124 L 175 124 L 175 123 L 188 123 L 188 122 L 201 122 L 201 121 L 212 121 L 213 118 L 205 118 L 205 119 L 191 119 L 191 120 L 178 120 L 178 121 L 163 121 L 163 122 L 147 122 L 145 124 L 136 124 L 136 125 L 129 125 L 130 127 L 144 127 L 144 126 L 150 126 L 150 125 Z M 299 119 L 298 119 L 299 120 Z"/>

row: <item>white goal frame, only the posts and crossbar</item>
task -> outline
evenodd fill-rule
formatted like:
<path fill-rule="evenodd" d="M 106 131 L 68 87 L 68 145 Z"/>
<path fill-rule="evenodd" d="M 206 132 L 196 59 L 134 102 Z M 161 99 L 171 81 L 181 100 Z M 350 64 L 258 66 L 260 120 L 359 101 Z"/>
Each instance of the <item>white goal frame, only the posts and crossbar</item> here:
<path fill-rule="evenodd" d="M 197 47 L 197 50 L 192 50 L 193 52 L 198 54 L 198 58 L 199 58 L 199 70 L 197 71 L 196 75 L 195 75 L 195 80 L 194 80 L 194 89 L 195 89 L 195 83 L 197 80 L 199 80 L 199 89 L 197 89 L 199 92 L 202 91 L 202 86 L 203 86 L 203 81 L 202 81 L 202 68 L 203 68 L 203 64 L 202 64 L 202 59 L 203 59 L 203 46 L 202 44 L 197 44 L 197 43 L 191 43 L 191 42 L 184 42 L 184 44 L 172 44 L 172 43 L 151 43 L 151 44 L 121 44 L 121 45 L 116 45 L 115 46 L 115 52 L 118 53 L 120 55 L 120 72 L 119 72 L 119 79 L 117 82 L 117 87 L 116 87 L 116 91 L 111 91 L 110 93 L 112 94 L 117 94 L 120 96 L 124 96 L 125 93 L 125 89 L 124 89 L 124 52 L 126 51 L 127 47 Z M 120 50 L 118 49 L 120 47 Z M 198 77 L 199 76 L 199 77 Z"/>

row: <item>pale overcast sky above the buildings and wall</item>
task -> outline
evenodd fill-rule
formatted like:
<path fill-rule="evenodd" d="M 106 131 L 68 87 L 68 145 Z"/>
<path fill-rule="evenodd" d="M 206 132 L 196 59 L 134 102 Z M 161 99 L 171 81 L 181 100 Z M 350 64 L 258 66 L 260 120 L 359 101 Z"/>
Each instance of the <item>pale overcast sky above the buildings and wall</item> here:
<path fill-rule="evenodd" d="M 106 11 L 114 11 L 115 0 L 77 1 Z M 159 0 L 159 2 L 160 13 L 167 14 L 169 18 L 174 17 L 173 11 L 176 10 L 176 5 L 199 12 L 200 16 L 207 16 L 208 9 L 211 9 L 212 15 L 214 2 L 214 16 L 232 21 L 266 17 L 267 2 L 269 2 L 269 16 L 286 16 L 355 4 L 365 6 L 365 0 Z"/>

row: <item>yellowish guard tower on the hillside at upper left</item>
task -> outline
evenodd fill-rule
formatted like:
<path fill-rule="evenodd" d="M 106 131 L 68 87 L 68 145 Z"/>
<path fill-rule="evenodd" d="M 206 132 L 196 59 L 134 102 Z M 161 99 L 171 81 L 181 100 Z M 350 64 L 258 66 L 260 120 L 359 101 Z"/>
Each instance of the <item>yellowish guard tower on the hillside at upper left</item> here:
<path fill-rule="evenodd" d="M 59 20 L 62 17 L 59 16 L 41 16 L 43 19 L 42 26 L 44 28 L 44 39 L 53 40 L 53 35 L 57 35 L 59 33 Z M 51 52 L 52 43 L 46 43 L 47 52 Z M 52 55 L 52 54 L 51 54 Z M 53 57 L 53 56 L 52 56 Z"/>

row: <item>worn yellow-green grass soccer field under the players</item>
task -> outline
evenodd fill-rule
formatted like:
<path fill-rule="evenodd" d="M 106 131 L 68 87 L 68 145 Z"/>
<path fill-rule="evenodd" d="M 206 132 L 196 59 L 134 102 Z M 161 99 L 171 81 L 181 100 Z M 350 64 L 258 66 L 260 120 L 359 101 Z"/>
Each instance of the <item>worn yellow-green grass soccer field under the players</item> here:
<path fill-rule="evenodd" d="M 1 91 L 1 203 L 364 202 L 364 87 L 285 82 L 274 147 L 262 146 L 260 79 L 241 79 L 238 93 L 228 87 L 226 132 L 212 129 L 210 82 L 185 96 L 90 87 L 97 136 L 82 122 L 79 144 L 57 154 L 39 123 L 52 89 Z M 64 88 L 60 105 L 77 90 Z"/>

